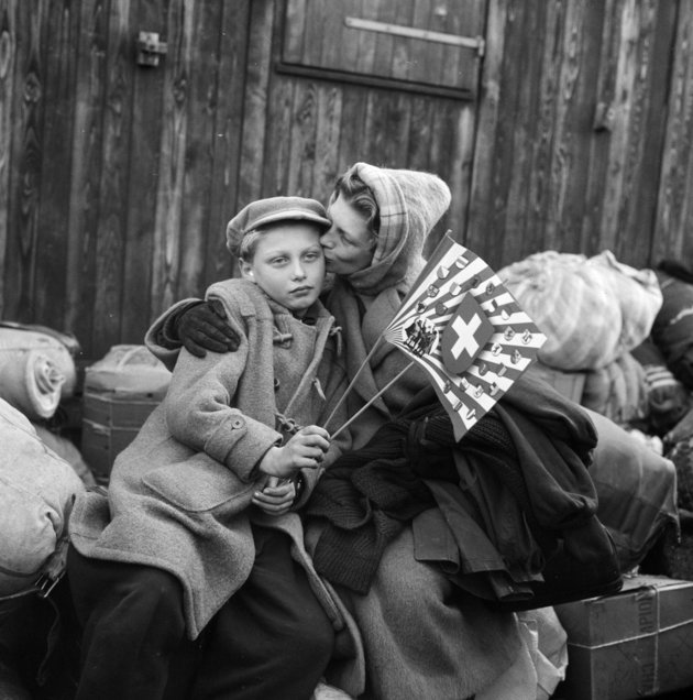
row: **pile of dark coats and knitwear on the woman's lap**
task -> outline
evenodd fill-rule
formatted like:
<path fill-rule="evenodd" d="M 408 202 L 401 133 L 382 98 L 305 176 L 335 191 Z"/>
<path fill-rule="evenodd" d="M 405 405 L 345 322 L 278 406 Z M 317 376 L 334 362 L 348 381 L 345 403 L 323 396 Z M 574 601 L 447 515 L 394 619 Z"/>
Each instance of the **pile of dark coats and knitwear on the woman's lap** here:
<path fill-rule="evenodd" d="M 617 591 L 618 554 L 590 477 L 596 444 L 588 416 L 540 380 L 517 381 L 460 442 L 426 389 L 316 486 L 306 506 L 323 523 L 316 568 L 364 593 L 411 522 L 417 558 L 499 608 Z"/>

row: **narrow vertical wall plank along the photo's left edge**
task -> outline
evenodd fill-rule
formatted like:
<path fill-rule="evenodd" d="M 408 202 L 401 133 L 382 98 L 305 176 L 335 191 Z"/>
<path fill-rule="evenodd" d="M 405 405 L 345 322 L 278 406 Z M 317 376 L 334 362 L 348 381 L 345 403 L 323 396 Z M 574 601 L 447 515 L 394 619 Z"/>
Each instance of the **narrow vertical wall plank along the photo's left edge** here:
<path fill-rule="evenodd" d="M 13 296 L 6 289 L 6 250 L 10 237 L 10 173 L 12 167 L 12 113 L 14 105 L 14 63 L 18 30 L 18 0 L 0 0 L 0 318 Z"/>

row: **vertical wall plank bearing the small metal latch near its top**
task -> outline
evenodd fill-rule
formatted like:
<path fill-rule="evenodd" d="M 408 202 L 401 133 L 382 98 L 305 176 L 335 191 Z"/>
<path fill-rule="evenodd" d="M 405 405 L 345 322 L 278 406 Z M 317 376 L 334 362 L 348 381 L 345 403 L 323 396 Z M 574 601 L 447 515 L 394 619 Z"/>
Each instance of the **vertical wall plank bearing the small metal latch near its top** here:
<path fill-rule="evenodd" d="M 157 32 L 166 41 L 166 9 L 162 0 L 140 0 L 131 11 L 132 34 Z M 132 57 L 134 61 L 134 57 Z M 153 318 L 153 231 L 156 226 L 158 150 L 162 134 L 164 63 L 133 68 L 130 158 L 123 260 L 121 341 L 141 343 Z"/>

